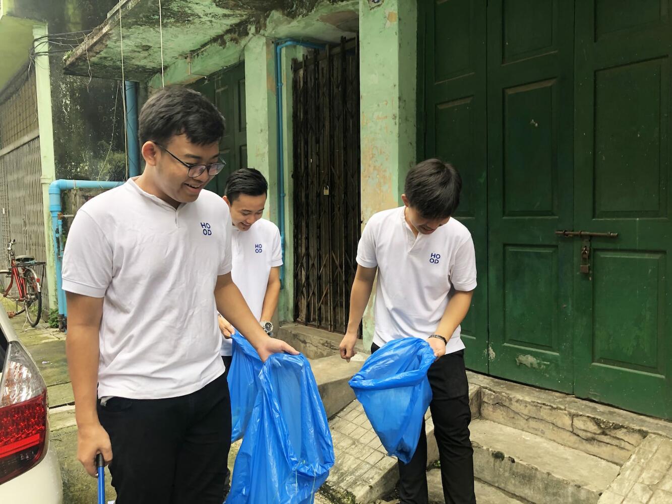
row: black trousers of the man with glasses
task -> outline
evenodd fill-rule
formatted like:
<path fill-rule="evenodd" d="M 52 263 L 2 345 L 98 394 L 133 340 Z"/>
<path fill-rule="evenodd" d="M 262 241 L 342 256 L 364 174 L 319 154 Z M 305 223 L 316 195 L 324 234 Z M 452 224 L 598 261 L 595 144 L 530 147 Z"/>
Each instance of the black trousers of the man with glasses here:
<path fill-rule="evenodd" d="M 98 417 L 112 442 L 117 504 L 222 504 L 231 444 L 223 374 L 185 396 L 110 398 Z"/>

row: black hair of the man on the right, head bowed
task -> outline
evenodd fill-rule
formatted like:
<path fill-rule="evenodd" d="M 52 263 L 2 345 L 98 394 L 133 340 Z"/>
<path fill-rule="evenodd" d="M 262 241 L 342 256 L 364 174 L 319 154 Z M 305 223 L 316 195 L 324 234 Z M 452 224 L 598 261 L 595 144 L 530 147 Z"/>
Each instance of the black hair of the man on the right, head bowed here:
<path fill-rule="evenodd" d="M 460 190 L 460 173 L 440 159 L 427 159 L 415 165 L 404 185 L 410 206 L 427 219 L 452 216 L 460 204 Z"/>

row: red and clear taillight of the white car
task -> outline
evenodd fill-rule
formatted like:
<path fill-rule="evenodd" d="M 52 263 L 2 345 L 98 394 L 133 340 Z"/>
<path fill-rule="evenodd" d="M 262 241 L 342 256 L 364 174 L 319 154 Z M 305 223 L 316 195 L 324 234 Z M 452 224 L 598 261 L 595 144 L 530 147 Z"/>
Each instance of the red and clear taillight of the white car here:
<path fill-rule="evenodd" d="M 28 353 L 11 341 L 0 380 L 0 484 L 42 460 L 46 435 L 46 385 Z"/>

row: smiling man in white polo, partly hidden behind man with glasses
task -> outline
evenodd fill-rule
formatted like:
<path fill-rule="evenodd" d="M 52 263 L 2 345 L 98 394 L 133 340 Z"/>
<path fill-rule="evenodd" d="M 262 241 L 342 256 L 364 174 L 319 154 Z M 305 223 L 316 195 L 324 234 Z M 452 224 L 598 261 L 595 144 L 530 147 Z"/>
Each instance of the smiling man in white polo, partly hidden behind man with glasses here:
<path fill-rule="evenodd" d="M 267 335 L 273 333 L 271 319 L 280 297 L 280 266 L 282 248 L 278 226 L 261 218 L 266 206 L 268 183 L 259 170 L 241 168 L 229 175 L 224 190 L 224 201 L 231 212 L 231 278 L 240 289 L 247 306 Z M 224 335 L 220 353 L 226 373 L 231 364 L 235 331 L 221 314 L 219 328 Z M 226 471 L 226 486 L 230 472 Z"/>

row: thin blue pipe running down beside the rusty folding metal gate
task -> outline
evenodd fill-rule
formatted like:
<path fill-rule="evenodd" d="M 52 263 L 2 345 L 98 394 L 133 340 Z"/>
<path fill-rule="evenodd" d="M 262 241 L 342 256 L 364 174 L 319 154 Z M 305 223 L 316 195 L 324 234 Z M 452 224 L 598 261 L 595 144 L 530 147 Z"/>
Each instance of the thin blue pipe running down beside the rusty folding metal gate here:
<path fill-rule="evenodd" d="M 278 40 L 276 42 L 276 114 L 278 116 L 278 228 L 280 228 L 280 247 L 282 266 L 280 266 L 280 288 L 285 285 L 285 160 L 284 135 L 282 124 L 282 50 L 288 46 L 301 46 L 311 49 L 324 49 L 324 44 L 299 42 L 298 40 Z"/>

